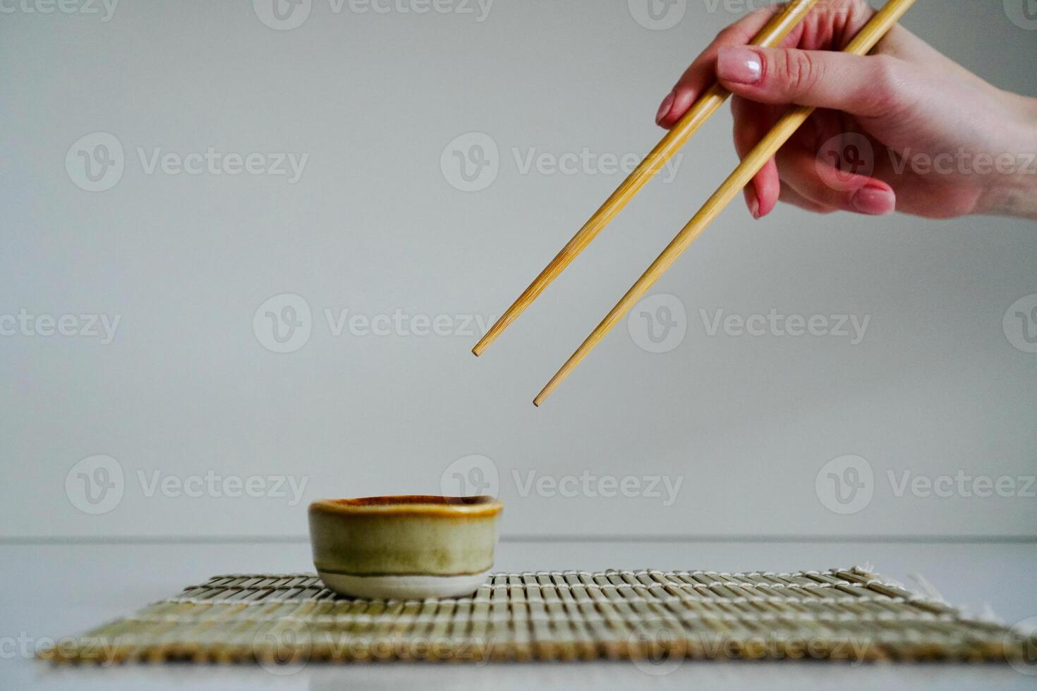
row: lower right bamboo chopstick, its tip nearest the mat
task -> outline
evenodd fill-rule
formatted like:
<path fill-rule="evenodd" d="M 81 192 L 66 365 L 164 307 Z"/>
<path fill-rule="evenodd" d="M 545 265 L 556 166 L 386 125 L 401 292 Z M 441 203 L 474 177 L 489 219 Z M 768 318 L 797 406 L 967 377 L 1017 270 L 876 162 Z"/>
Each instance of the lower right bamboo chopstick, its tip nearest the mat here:
<path fill-rule="evenodd" d="M 843 52 L 852 55 L 867 55 L 871 49 L 881 40 L 893 26 L 900 21 L 915 0 L 889 0 L 886 6 L 868 22 L 860 33 L 849 42 Z M 733 173 L 720 185 L 706 203 L 699 209 L 698 213 L 688 222 L 673 241 L 667 246 L 651 266 L 638 279 L 637 283 L 626 291 L 622 299 L 612 308 L 608 316 L 587 337 L 574 353 L 566 361 L 560 370 L 551 378 L 548 385 L 533 400 L 534 405 L 540 405 L 559 383 L 576 368 L 580 362 L 587 356 L 587 353 L 605 337 L 609 330 L 616 325 L 616 322 L 629 312 L 641 297 L 651 288 L 652 284 L 658 280 L 663 273 L 670 268 L 677 257 L 688 249 L 706 226 L 717 218 L 724 207 L 753 179 L 767 161 L 774 156 L 778 149 L 795 133 L 796 129 L 810 117 L 814 109 L 807 106 L 796 106 L 786 113 L 774 126 L 774 128 L 760 141 L 756 147 L 750 151 L 749 155 L 742 160 Z"/>

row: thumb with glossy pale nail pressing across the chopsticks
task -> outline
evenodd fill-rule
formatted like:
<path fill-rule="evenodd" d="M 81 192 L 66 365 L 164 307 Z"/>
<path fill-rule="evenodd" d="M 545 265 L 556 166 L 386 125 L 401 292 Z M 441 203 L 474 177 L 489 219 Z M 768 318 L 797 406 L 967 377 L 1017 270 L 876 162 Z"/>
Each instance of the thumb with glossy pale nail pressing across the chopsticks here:
<path fill-rule="evenodd" d="M 763 104 L 796 104 L 861 117 L 894 113 L 909 98 L 909 65 L 888 55 L 756 47 L 721 48 L 717 79 L 724 88 Z"/>

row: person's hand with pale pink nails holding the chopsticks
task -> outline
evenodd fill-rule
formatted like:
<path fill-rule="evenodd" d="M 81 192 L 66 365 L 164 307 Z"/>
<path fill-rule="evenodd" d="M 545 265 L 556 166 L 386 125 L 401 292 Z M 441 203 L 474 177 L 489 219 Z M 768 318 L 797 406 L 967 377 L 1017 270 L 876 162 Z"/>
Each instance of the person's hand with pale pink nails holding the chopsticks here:
<path fill-rule="evenodd" d="M 656 116 L 672 127 L 716 78 L 734 94 L 745 156 L 789 104 L 817 107 L 746 188 L 755 218 L 780 199 L 821 213 L 1037 219 L 1037 100 L 991 86 L 901 26 L 869 56 L 838 52 L 874 15 L 864 0 L 824 0 L 781 48 L 747 47 L 779 9 L 721 32 Z"/>

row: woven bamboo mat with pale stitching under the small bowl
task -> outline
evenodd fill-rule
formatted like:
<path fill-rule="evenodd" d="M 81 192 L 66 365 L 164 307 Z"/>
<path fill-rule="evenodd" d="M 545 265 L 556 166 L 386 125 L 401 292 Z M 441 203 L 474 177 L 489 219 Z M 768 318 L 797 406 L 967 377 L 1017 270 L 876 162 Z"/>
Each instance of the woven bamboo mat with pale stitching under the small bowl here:
<path fill-rule="evenodd" d="M 214 576 L 40 654 L 55 661 L 1021 658 L 1003 626 L 863 569 L 495 574 L 473 597 L 364 601 L 312 574 Z"/>

